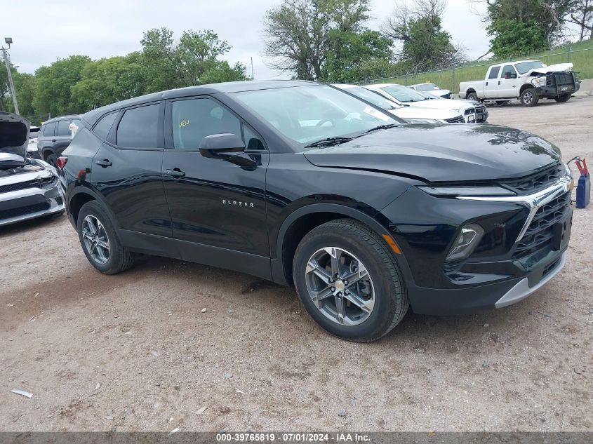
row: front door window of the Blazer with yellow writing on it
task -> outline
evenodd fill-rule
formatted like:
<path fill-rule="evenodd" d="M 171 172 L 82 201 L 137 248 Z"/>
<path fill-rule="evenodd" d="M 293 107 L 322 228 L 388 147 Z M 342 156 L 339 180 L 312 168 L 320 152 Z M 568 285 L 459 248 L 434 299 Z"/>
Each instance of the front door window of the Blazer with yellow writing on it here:
<path fill-rule="evenodd" d="M 173 147 L 197 149 L 207 135 L 232 133 L 241 137 L 241 122 L 211 99 L 178 100 L 171 104 Z M 246 143 L 246 146 L 248 143 Z"/>

